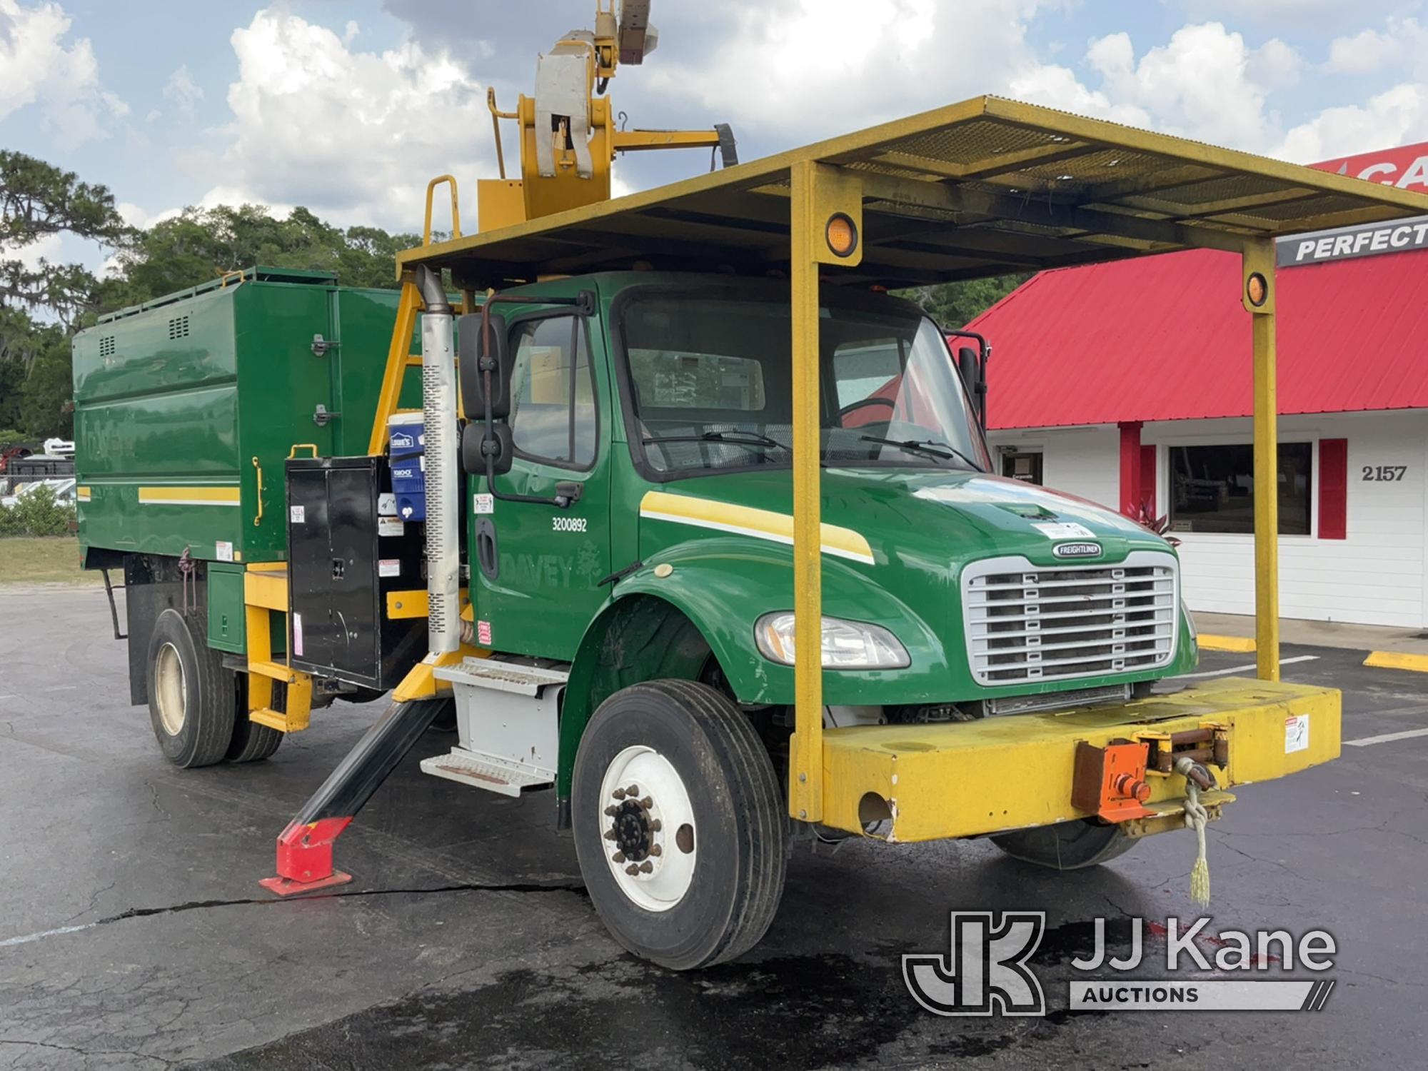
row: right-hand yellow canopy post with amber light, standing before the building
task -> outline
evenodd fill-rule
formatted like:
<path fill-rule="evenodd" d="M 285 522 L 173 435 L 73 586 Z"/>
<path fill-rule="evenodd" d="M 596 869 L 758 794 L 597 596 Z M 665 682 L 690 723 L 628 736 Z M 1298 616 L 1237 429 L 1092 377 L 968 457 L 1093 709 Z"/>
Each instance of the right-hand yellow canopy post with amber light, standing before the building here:
<path fill-rule="evenodd" d="M 1247 241 L 1241 300 L 1254 331 L 1254 613 L 1258 677 L 1279 680 L 1279 430 L 1274 240 Z"/>

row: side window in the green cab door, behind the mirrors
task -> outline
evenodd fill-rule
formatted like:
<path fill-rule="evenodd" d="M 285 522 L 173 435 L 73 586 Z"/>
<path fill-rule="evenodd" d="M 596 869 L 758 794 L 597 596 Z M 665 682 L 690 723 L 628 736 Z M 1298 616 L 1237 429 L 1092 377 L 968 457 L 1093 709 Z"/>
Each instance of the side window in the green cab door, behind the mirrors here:
<path fill-rule="evenodd" d="M 595 381 L 578 317 L 527 320 L 511 331 L 511 443 L 516 453 L 565 468 L 595 461 Z"/>

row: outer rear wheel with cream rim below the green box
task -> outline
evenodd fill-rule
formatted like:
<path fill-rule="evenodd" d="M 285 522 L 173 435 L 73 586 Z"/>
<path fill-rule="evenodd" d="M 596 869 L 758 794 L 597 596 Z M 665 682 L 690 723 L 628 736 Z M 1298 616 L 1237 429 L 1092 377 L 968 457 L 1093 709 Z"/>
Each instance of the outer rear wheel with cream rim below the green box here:
<path fill-rule="evenodd" d="M 164 758 L 181 768 L 213 765 L 233 740 L 237 688 L 223 655 L 177 610 L 149 637 L 149 720 Z"/>

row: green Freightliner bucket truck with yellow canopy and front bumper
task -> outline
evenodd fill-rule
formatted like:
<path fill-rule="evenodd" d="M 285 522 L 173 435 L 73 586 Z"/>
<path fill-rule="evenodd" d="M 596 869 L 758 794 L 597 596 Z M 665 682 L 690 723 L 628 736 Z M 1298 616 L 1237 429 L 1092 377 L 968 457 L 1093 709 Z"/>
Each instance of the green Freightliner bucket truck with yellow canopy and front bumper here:
<path fill-rule="evenodd" d="M 1152 694 L 1198 655 L 1175 551 L 994 476 L 988 347 L 888 291 L 1242 254 L 1274 487 L 1274 240 L 1428 198 L 981 97 L 611 201 L 621 149 L 733 149 L 611 126 L 647 7 L 541 60 L 478 234 L 450 180 L 433 240 L 428 187 L 400 291 L 257 267 L 77 337 L 84 560 L 123 570 L 166 757 L 391 691 L 266 884 L 346 880 L 334 838 L 417 748 L 548 790 L 615 938 L 693 968 L 763 937 L 804 837 L 1074 870 L 1337 757 L 1338 693 L 1277 680 L 1275 497 L 1259 678 Z"/>

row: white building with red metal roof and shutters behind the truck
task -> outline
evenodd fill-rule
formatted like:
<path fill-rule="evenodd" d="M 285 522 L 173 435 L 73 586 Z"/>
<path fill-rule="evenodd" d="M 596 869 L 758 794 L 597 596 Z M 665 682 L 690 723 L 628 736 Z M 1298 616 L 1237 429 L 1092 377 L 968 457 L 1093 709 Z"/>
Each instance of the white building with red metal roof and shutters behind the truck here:
<path fill-rule="evenodd" d="M 1428 144 L 1319 167 L 1428 190 Z M 1289 240 L 1277 274 L 1282 613 L 1428 625 L 1428 218 Z M 1044 271 L 968 328 L 1004 474 L 1167 514 L 1191 608 L 1251 613 L 1238 287 L 1214 250 Z"/>

